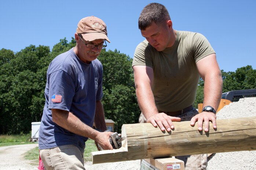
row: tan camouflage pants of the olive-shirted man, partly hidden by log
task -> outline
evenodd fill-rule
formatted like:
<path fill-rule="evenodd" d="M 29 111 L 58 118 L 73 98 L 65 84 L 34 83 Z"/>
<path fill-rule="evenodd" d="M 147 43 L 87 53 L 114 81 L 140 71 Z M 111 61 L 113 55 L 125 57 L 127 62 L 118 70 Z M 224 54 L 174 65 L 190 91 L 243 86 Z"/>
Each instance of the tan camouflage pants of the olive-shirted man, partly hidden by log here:
<path fill-rule="evenodd" d="M 180 117 L 181 121 L 190 121 L 192 117 L 198 114 L 196 109 L 192 109 L 181 115 L 175 116 Z M 140 114 L 139 123 L 146 123 L 147 120 L 143 113 Z M 185 155 L 185 156 L 175 156 L 176 159 L 184 161 L 186 170 L 206 170 L 207 166 L 207 154 L 202 155 Z"/>

